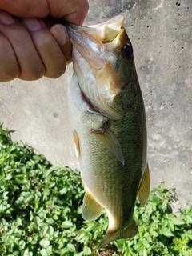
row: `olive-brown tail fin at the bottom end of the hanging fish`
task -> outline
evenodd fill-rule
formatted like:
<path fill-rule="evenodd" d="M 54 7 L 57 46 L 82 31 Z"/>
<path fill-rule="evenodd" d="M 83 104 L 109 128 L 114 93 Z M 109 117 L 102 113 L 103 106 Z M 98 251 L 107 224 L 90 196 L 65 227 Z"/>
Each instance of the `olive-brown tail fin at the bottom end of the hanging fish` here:
<path fill-rule="evenodd" d="M 138 233 L 138 226 L 135 221 L 133 224 L 126 228 L 126 230 L 107 230 L 105 237 L 102 239 L 102 242 L 99 244 L 98 249 L 106 246 L 108 243 L 113 242 L 118 239 L 128 239 L 133 238 L 135 234 Z"/>

